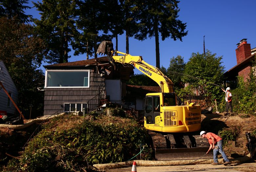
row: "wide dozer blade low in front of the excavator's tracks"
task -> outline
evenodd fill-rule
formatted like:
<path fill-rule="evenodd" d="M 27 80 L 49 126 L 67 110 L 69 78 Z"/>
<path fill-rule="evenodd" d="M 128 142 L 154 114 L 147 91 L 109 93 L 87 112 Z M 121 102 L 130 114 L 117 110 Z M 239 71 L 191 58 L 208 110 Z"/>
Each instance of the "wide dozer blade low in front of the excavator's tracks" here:
<path fill-rule="evenodd" d="M 155 158 L 158 161 L 212 159 L 211 153 L 205 154 L 207 151 L 208 148 L 155 149 Z"/>

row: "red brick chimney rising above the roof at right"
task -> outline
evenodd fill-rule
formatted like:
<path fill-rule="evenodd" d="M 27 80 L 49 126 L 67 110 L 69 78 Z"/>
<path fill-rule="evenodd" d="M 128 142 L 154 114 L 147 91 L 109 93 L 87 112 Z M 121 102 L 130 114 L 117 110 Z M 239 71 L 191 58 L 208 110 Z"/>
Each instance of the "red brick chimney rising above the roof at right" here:
<path fill-rule="evenodd" d="M 236 61 L 239 64 L 251 55 L 251 44 L 247 44 L 247 39 L 242 39 L 237 45 Z"/>

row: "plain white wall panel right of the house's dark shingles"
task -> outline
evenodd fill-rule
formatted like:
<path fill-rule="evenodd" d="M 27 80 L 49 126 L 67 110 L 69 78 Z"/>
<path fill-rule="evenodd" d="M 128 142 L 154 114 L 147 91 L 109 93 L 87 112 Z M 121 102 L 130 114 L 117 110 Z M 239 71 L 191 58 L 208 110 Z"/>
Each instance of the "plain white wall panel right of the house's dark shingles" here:
<path fill-rule="evenodd" d="M 122 82 L 120 80 L 106 80 L 106 95 L 110 96 L 110 102 L 121 102 Z"/>

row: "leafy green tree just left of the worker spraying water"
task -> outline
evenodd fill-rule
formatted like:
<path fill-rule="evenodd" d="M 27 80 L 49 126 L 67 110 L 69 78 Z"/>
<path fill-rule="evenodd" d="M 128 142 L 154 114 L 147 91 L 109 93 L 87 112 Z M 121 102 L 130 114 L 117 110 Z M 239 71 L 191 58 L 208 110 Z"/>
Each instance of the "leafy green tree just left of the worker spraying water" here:
<path fill-rule="evenodd" d="M 190 89 L 204 94 L 208 103 L 222 98 L 222 90 L 216 86 L 223 81 L 224 66 L 221 60 L 222 56 L 216 57 L 207 50 L 205 54 L 192 53 L 185 65 L 182 81 L 188 83 Z"/>

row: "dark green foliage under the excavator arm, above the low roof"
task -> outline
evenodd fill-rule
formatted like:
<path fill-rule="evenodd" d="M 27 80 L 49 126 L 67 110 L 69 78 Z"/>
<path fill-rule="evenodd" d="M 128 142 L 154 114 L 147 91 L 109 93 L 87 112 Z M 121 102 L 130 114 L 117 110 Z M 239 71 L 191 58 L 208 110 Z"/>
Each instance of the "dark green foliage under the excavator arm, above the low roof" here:
<path fill-rule="evenodd" d="M 132 75 L 126 84 L 134 86 L 159 86 L 153 79 L 143 73 Z"/>

